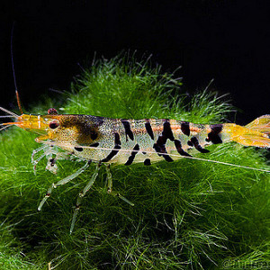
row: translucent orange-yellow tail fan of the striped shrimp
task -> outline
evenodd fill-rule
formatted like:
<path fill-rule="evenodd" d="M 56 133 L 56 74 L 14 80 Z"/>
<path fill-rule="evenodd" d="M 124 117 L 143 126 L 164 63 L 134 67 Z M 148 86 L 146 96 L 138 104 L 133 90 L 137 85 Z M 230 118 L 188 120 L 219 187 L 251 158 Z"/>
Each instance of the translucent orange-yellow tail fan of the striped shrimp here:
<path fill-rule="evenodd" d="M 245 146 L 270 148 L 270 114 L 258 117 L 245 127 L 236 124 L 224 124 L 229 139 Z"/>

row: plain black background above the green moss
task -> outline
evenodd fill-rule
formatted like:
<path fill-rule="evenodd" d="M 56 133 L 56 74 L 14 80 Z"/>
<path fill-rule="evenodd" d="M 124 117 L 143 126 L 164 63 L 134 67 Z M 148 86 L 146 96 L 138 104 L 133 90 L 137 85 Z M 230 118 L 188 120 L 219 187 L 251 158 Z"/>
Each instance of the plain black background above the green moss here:
<path fill-rule="evenodd" d="M 122 49 L 153 54 L 152 62 L 184 77 L 184 91 L 230 93 L 247 123 L 269 108 L 267 1 L 14 1 L 0 8 L 0 105 L 14 102 L 10 38 L 23 104 L 49 88 L 68 90 L 96 51 L 111 58 Z M 9 3 L 9 4 L 8 4 Z M 231 119 L 234 121 L 234 119 Z"/>

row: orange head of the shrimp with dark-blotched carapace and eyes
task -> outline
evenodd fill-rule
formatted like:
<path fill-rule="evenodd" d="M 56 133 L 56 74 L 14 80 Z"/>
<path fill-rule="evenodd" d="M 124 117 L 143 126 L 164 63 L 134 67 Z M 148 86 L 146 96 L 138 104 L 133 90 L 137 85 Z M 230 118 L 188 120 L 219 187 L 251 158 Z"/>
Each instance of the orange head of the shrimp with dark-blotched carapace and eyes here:
<path fill-rule="evenodd" d="M 58 145 L 60 143 L 85 145 L 93 143 L 100 137 L 98 126 L 101 124 L 102 118 L 99 117 L 82 114 L 58 114 L 53 108 L 44 115 L 22 114 L 19 116 L 1 107 L 0 109 L 16 119 L 14 122 L 3 123 L 4 128 L 15 125 L 23 130 L 39 134 L 40 137 L 36 138 L 37 142 L 51 139 Z"/>

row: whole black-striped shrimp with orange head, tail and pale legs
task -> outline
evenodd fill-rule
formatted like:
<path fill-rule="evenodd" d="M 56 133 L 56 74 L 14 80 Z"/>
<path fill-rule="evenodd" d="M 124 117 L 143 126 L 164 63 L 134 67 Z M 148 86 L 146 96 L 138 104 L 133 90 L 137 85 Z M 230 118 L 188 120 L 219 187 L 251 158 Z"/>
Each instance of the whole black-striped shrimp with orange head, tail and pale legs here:
<path fill-rule="evenodd" d="M 54 188 L 67 184 L 83 173 L 91 162 L 96 163 L 94 174 L 78 194 L 70 232 L 74 229 L 82 198 L 94 184 L 102 164 L 105 164 L 107 170 L 108 193 L 133 205 L 120 193 L 112 191 L 111 163 L 130 166 L 143 162 L 145 166 L 149 166 L 151 162 L 158 160 L 173 162 L 180 157 L 193 158 L 190 151 L 192 148 L 206 153 L 209 150 L 205 147 L 229 141 L 244 146 L 270 148 L 270 115 L 261 116 L 243 127 L 235 123 L 202 125 L 169 119 L 127 120 L 84 114 L 58 114 L 52 108 L 45 115 L 19 116 L 4 108 L 0 109 L 8 113 L 9 117 L 15 118 L 14 122 L 1 124 L 1 129 L 15 125 L 40 135 L 35 140 L 43 146 L 32 153 L 34 169 L 43 157 L 48 158 L 46 168 L 53 173 L 57 171 L 58 159 L 77 157 L 85 161 L 85 165 L 74 174 L 49 187 L 40 202 L 39 210 Z M 58 148 L 63 151 L 58 151 Z M 42 154 L 37 155 L 38 153 Z"/>

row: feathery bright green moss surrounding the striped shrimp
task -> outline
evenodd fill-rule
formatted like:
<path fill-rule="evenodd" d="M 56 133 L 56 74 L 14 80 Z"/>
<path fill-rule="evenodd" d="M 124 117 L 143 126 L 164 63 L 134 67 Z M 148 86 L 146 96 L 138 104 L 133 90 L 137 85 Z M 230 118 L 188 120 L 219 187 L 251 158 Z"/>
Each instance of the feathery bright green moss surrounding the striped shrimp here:
<path fill-rule="evenodd" d="M 94 61 L 57 103 L 62 113 L 112 118 L 172 118 L 224 122 L 232 107 L 216 94 L 184 94 L 181 79 L 163 73 L 149 58 L 121 54 Z M 47 98 L 31 107 L 44 114 Z M 257 115 L 255 115 L 255 118 Z M 106 192 L 101 169 L 85 196 L 74 232 L 69 228 L 76 196 L 94 170 L 55 189 L 50 184 L 82 166 L 59 161 L 58 174 L 41 160 L 34 175 L 35 135 L 18 128 L 1 132 L 1 269 L 260 269 L 269 262 L 269 180 L 264 172 L 179 159 L 152 166 L 112 166 L 113 189 L 135 205 Z M 265 151 L 235 143 L 195 154 L 231 164 L 269 169 Z"/>

